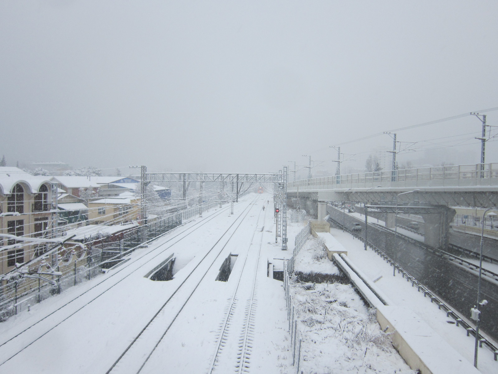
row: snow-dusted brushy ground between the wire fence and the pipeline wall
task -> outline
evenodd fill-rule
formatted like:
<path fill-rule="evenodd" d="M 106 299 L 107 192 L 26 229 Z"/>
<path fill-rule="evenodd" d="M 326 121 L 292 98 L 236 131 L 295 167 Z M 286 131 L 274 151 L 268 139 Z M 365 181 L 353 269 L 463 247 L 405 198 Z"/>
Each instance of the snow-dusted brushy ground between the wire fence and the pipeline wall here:
<path fill-rule="evenodd" d="M 304 273 L 339 273 L 327 258 L 321 238 L 308 239 L 294 268 Z M 303 337 L 304 373 L 415 373 L 350 284 L 302 283 L 294 277 L 290 286 Z"/>

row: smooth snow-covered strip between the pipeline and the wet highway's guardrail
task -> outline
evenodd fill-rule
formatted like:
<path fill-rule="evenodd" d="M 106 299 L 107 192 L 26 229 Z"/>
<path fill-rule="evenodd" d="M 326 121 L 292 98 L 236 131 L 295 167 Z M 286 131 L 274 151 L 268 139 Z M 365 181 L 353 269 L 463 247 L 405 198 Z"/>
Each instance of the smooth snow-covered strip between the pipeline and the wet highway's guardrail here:
<path fill-rule="evenodd" d="M 387 306 L 377 301 L 378 322 L 382 329 L 392 332 L 393 344 L 412 368 L 433 374 L 496 373 L 498 364 L 493 353 L 480 349 L 479 371 L 476 370 L 472 365 L 474 337 L 467 337 L 465 329 L 456 327 L 443 310 L 405 278 L 393 276 L 392 267 L 373 250 L 365 251 L 363 242 L 340 229 L 331 228 L 330 232 L 348 250 L 348 262 L 388 298 Z"/>

